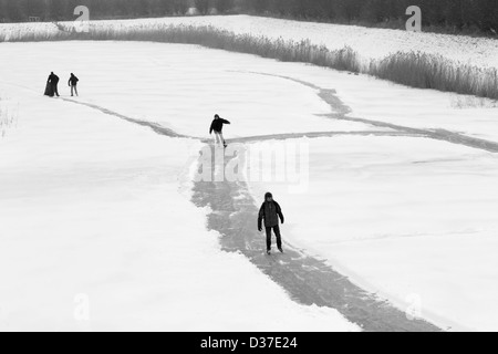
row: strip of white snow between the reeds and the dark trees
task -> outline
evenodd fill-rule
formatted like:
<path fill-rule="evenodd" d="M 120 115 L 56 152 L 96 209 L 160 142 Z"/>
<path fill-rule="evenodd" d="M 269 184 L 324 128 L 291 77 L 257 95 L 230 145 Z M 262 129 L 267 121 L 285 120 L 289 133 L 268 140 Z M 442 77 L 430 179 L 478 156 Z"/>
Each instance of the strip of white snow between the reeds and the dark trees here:
<path fill-rule="evenodd" d="M 155 28 L 165 24 L 212 25 L 238 34 L 250 33 L 292 41 L 310 40 L 315 44 L 324 44 L 331 50 L 347 45 L 366 60 L 382 59 L 398 51 L 413 51 L 443 55 L 466 64 L 498 67 L 498 41 L 466 35 L 414 33 L 401 30 L 299 22 L 250 15 L 139 19 L 95 21 L 92 23 L 96 28 L 123 30 L 138 27 Z M 0 24 L 0 31 L 3 33 L 32 31 L 52 33 L 56 32 L 58 29 L 52 23 Z"/>

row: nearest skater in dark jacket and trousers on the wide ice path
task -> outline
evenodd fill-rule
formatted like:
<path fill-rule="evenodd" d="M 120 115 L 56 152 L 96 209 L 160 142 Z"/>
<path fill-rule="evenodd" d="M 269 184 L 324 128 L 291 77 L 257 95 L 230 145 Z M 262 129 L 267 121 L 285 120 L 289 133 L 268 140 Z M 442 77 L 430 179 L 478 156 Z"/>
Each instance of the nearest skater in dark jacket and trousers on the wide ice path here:
<path fill-rule="evenodd" d="M 283 253 L 282 249 L 282 236 L 280 235 L 279 219 L 283 223 L 283 214 L 280 205 L 273 200 L 271 192 L 264 195 L 264 202 L 259 209 L 258 216 L 258 230 L 262 231 L 262 220 L 264 219 L 264 228 L 267 231 L 267 253 L 271 253 L 271 229 L 273 229 L 277 237 L 277 247 L 279 251 Z"/>

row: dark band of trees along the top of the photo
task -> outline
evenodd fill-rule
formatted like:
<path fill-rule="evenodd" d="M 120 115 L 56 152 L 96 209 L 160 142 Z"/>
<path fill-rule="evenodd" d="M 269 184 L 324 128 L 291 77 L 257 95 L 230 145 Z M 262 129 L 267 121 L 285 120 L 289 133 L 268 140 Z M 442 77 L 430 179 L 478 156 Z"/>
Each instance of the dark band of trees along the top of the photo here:
<path fill-rule="evenodd" d="M 251 13 L 299 20 L 402 28 L 409 6 L 422 9 L 425 28 L 455 32 L 498 32 L 497 0 L 0 0 L 0 20 L 74 19 L 76 6 L 86 6 L 93 19 Z"/>

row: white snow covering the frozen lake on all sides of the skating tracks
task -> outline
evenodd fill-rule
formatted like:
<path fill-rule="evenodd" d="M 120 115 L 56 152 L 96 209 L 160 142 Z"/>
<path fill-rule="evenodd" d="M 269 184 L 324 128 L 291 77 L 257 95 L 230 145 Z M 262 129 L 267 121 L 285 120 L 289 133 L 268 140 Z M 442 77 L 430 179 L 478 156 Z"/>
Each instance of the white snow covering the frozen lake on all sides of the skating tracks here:
<path fill-rule="evenodd" d="M 232 121 L 229 138 L 380 129 L 330 119 L 318 90 L 256 74 L 266 73 L 336 90 L 351 116 L 498 142 L 496 110 L 456 110 L 453 94 L 304 64 L 158 43 L 0 45 L 0 91 L 20 102 L 18 128 L 0 140 L 9 230 L 0 323 L 18 319 L 14 329 L 74 327 L 74 294 L 89 293 L 93 329 L 354 330 L 334 311 L 298 306 L 240 256 L 218 251 L 204 210 L 185 197 L 181 171 L 196 140 L 40 97 L 50 71 L 65 96 L 74 72 L 77 101 L 191 136 L 206 137 L 215 113 Z M 442 325 L 498 329 L 495 155 L 413 137 L 308 142 L 307 194 L 252 185 L 258 201 L 267 189 L 281 201 L 288 240 L 400 304 L 421 295 L 423 314 Z M 266 306 L 282 315 L 261 321 Z"/>

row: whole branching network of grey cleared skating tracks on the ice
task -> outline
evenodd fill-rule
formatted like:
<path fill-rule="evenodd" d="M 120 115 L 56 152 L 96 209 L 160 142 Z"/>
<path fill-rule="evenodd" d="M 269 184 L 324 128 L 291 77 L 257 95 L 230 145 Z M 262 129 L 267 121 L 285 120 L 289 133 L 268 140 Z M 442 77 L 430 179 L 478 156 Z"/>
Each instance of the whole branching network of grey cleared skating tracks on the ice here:
<path fill-rule="evenodd" d="M 282 80 L 290 80 L 308 86 L 318 92 L 318 95 L 334 111 L 324 115 L 331 119 L 342 119 L 363 123 L 378 131 L 364 132 L 309 132 L 288 133 L 264 136 L 248 136 L 228 139 L 228 143 L 257 143 L 276 139 L 334 137 L 341 135 L 356 136 L 409 136 L 465 145 L 491 153 L 498 153 L 498 144 L 490 140 L 473 138 L 445 129 L 422 129 L 400 126 L 391 123 L 351 117 L 351 110 L 336 96 L 334 90 L 321 88 L 312 83 L 293 77 L 280 76 L 267 73 L 252 73 L 270 75 Z M 157 134 L 173 138 L 199 139 L 211 144 L 210 139 L 178 134 L 172 129 L 162 127 L 157 123 L 138 121 L 105 107 L 62 98 L 75 104 L 85 105 L 104 114 L 113 115 L 127 122 L 148 126 Z M 226 159 L 228 164 L 230 159 Z M 215 180 L 215 178 L 212 178 Z M 356 323 L 364 331 L 391 331 L 391 332 L 438 332 L 442 329 L 423 319 L 407 319 L 404 311 L 395 308 L 388 301 L 378 298 L 374 293 L 364 291 L 352 283 L 346 277 L 336 272 L 331 266 L 318 258 L 305 254 L 286 243 L 284 254 L 267 256 L 264 237 L 256 230 L 256 217 L 258 214 L 257 201 L 249 194 L 246 181 L 199 181 L 193 187 L 193 202 L 198 207 L 209 207 L 207 227 L 220 233 L 220 243 L 225 251 L 240 252 L 245 254 L 258 269 L 280 284 L 297 302 L 319 306 L 329 306 L 338 310 L 349 321 Z"/>

